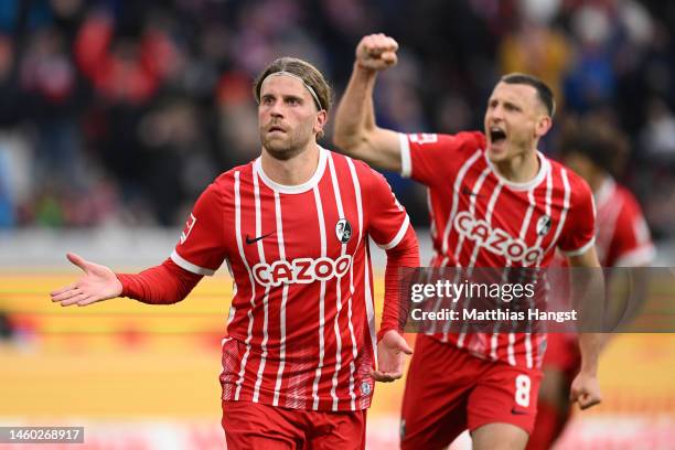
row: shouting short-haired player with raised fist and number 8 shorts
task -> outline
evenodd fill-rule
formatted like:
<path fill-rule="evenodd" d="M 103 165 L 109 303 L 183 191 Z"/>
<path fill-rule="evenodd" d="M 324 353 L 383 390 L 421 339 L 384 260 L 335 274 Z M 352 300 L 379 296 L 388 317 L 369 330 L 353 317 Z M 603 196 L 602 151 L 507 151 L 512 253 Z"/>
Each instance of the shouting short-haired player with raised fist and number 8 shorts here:
<path fill-rule="evenodd" d="M 356 47 L 335 119 L 335 143 L 352 157 L 428 186 L 435 267 L 546 267 L 556 248 L 575 267 L 599 267 L 591 192 L 578 175 L 537 151 L 555 110 L 538 78 L 510 74 L 488 101 L 484 132 L 403 135 L 377 127 L 377 72 L 397 62 L 384 34 Z M 492 237 L 499 239 L 492 239 Z M 523 449 L 532 432 L 540 333 L 418 335 L 406 382 L 401 448 L 441 449 L 464 429 L 474 449 Z M 600 335 L 580 334 L 581 369 L 571 396 L 600 401 Z"/>

